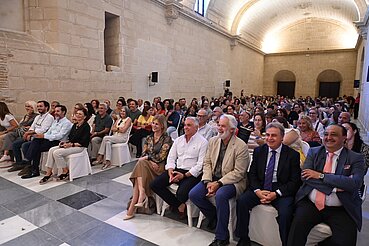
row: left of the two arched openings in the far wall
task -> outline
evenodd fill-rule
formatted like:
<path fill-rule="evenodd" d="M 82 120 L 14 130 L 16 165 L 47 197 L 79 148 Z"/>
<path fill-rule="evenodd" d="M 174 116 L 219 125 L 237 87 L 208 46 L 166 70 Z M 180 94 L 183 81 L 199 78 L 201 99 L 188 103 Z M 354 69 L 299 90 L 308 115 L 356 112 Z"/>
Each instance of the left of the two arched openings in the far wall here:
<path fill-rule="evenodd" d="M 281 70 L 274 75 L 276 94 L 293 98 L 295 96 L 296 76 L 289 70 Z"/>

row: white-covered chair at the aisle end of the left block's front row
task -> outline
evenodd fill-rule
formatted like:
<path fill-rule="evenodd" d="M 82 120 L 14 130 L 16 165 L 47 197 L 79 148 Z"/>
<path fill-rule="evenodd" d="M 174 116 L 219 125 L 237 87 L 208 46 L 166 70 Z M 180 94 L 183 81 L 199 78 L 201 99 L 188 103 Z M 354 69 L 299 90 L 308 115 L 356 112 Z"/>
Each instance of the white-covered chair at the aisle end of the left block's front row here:
<path fill-rule="evenodd" d="M 131 129 L 132 125 L 127 130 L 127 141 L 125 141 L 124 143 L 115 143 L 111 145 L 111 164 L 113 166 L 121 167 L 123 164 L 131 161 L 131 152 L 128 145 Z"/>

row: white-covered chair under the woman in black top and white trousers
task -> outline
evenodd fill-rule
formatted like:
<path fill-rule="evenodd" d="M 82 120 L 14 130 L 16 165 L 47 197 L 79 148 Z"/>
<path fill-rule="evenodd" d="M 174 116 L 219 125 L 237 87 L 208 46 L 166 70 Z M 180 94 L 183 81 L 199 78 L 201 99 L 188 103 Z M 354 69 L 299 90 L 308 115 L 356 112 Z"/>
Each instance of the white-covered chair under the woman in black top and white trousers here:
<path fill-rule="evenodd" d="M 90 158 L 88 157 L 87 148 L 82 152 L 71 154 L 67 157 L 69 167 L 69 180 L 87 176 L 92 173 Z"/>

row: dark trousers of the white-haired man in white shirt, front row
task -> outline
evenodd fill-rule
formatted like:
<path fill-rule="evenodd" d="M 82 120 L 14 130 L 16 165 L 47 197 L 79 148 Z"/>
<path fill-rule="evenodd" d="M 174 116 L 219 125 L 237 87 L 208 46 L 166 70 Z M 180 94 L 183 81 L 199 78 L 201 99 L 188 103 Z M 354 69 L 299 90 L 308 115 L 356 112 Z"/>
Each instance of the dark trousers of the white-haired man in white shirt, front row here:
<path fill-rule="evenodd" d="M 185 174 L 188 170 L 183 169 L 175 169 L 180 173 Z M 151 182 L 150 188 L 158 194 L 166 203 L 168 203 L 172 207 L 178 208 L 182 203 L 185 203 L 188 200 L 188 194 L 190 190 L 201 180 L 200 177 L 188 177 L 179 181 L 178 189 L 176 195 L 168 190 L 168 186 L 172 183 L 169 183 L 169 174 L 168 172 L 162 173 L 160 176 L 156 177 L 154 181 Z"/>

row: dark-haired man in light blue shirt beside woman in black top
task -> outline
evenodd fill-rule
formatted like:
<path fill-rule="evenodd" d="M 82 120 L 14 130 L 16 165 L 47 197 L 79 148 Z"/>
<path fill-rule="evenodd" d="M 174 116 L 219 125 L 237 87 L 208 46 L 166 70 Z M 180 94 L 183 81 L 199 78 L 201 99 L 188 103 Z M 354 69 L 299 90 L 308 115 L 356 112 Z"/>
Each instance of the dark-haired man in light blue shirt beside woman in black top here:
<path fill-rule="evenodd" d="M 73 124 L 65 117 L 66 113 L 67 108 L 64 105 L 56 106 L 54 112 L 55 120 L 49 130 L 46 133 L 33 135 L 33 140 L 27 152 L 23 153 L 24 160 L 31 165 L 31 169 L 29 173 L 22 176 L 22 179 L 40 176 L 39 165 L 41 153 L 48 151 L 51 147 L 57 146 L 60 142 L 67 141 Z"/>

